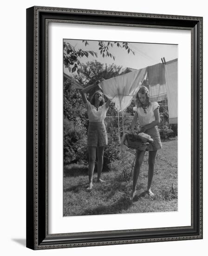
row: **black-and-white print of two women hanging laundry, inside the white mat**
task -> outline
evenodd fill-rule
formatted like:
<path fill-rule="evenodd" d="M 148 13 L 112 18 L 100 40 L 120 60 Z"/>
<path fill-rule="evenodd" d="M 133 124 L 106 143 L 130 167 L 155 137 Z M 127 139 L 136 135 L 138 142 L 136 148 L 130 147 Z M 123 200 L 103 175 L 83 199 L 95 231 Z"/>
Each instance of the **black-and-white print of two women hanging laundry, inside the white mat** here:
<path fill-rule="evenodd" d="M 63 216 L 178 210 L 178 45 L 63 39 Z"/>

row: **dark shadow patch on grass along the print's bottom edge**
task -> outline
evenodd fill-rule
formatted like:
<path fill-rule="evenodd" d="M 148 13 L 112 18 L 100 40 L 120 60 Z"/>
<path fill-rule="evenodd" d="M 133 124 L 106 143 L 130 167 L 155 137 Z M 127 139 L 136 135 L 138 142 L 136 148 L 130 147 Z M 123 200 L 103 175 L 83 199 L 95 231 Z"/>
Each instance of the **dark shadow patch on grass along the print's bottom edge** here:
<path fill-rule="evenodd" d="M 86 209 L 82 215 L 118 214 L 121 210 L 127 210 L 132 205 L 130 198 L 122 197 L 112 205 L 102 205 L 94 209 Z"/>

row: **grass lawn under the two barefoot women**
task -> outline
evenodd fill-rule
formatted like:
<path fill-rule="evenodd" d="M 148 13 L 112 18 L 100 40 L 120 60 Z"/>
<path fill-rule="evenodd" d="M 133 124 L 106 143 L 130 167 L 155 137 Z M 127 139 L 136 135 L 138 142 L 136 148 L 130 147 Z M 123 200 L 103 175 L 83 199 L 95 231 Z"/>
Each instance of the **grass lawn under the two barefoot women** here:
<path fill-rule="evenodd" d="M 148 152 L 137 182 L 137 193 L 130 200 L 132 176 L 123 177 L 122 161 L 113 164 L 112 170 L 103 172 L 104 183 L 97 183 L 87 191 L 87 166 L 68 165 L 64 169 L 64 216 L 121 214 L 140 212 L 177 211 L 177 140 L 162 142 L 163 149 L 156 156 L 155 173 L 152 182 L 154 198 L 144 194 L 148 178 Z M 125 155 L 130 154 L 126 153 Z M 125 161 L 128 175 L 131 172 L 133 155 Z"/>

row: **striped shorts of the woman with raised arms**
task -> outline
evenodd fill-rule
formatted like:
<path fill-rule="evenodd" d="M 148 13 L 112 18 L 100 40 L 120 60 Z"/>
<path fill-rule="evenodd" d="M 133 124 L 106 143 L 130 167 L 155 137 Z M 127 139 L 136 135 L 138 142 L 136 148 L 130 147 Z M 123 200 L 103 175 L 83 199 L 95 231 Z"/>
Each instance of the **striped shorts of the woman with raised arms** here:
<path fill-rule="evenodd" d="M 104 122 L 90 122 L 87 132 L 88 147 L 103 147 L 108 144 Z"/>

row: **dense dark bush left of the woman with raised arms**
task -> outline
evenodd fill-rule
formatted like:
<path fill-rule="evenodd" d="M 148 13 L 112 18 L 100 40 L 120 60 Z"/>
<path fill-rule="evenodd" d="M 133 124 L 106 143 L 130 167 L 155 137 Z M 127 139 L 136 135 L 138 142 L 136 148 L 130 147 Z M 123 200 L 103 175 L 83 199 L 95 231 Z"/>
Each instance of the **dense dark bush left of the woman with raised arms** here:
<path fill-rule="evenodd" d="M 86 110 L 72 80 L 64 80 L 64 164 L 87 159 Z"/>

